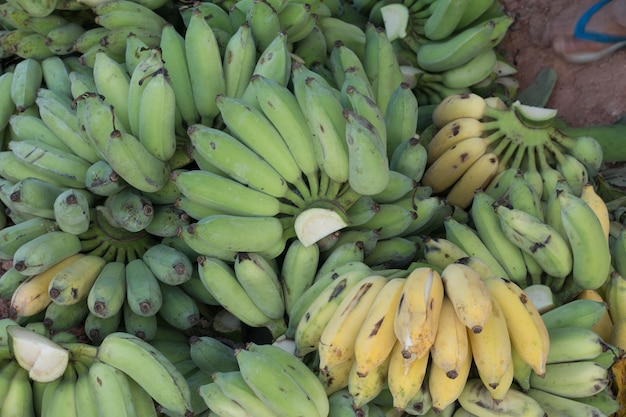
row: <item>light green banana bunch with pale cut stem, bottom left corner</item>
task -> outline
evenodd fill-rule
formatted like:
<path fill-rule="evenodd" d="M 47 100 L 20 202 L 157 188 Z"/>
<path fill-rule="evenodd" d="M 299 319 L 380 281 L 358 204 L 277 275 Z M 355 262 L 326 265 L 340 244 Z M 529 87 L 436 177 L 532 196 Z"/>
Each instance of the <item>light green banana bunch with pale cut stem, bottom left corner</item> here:
<path fill-rule="evenodd" d="M 23 416 L 159 416 L 167 411 L 172 416 L 193 415 L 187 379 L 163 353 L 166 349 L 161 352 L 125 332 L 108 335 L 96 348 L 59 338 L 54 342 L 48 339 L 49 335 L 34 329 L 20 327 L 10 319 L 2 320 L 0 346 L 6 354 L 2 355 L 0 371 L 1 413 L 19 410 Z M 163 346 L 174 343 L 174 336 L 161 337 Z M 65 352 L 69 362 L 36 375 L 32 370 L 41 365 L 33 365 L 29 373 L 20 358 L 32 357 L 39 349 L 44 352 L 44 346 L 47 352 Z M 180 352 L 180 346 L 176 349 Z M 186 352 L 189 354 L 188 345 Z"/>

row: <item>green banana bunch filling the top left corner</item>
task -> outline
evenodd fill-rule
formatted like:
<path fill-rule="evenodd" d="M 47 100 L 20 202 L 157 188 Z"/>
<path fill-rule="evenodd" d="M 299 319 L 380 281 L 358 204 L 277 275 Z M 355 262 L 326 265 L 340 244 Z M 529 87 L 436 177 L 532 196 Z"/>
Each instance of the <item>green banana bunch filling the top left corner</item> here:
<path fill-rule="evenodd" d="M 0 24 L 4 29 L 0 37 L 2 58 L 45 61 L 51 74 L 62 70 L 64 61 L 80 61 L 91 66 L 95 52 L 101 49 L 123 61 L 130 33 L 151 46 L 159 44 L 166 20 L 158 11 L 165 11 L 168 3 L 164 0 L 94 4 L 73 0 L 5 2 L 0 8 Z"/>

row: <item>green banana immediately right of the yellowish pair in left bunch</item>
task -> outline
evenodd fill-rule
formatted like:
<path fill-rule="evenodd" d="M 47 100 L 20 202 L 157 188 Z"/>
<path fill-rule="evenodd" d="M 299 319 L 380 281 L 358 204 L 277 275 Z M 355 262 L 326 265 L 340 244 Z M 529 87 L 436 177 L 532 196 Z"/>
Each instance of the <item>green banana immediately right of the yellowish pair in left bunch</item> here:
<path fill-rule="evenodd" d="M 125 299 L 126 268 L 121 262 L 107 262 L 87 295 L 89 311 L 96 317 L 111 317 L 122 310 Z"/>

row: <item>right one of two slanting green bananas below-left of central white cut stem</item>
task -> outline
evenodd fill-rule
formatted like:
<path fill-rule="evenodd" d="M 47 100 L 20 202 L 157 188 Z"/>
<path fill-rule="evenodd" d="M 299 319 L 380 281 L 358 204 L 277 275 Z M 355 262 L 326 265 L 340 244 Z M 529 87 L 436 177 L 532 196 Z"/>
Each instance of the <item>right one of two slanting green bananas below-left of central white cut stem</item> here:
<path fill-rule="evenodd" d="M 285 302 L 278 274 L 257 252 L 238 252 L 233 265 L 237 281 L 266 316 L 281 319 Z"/>

